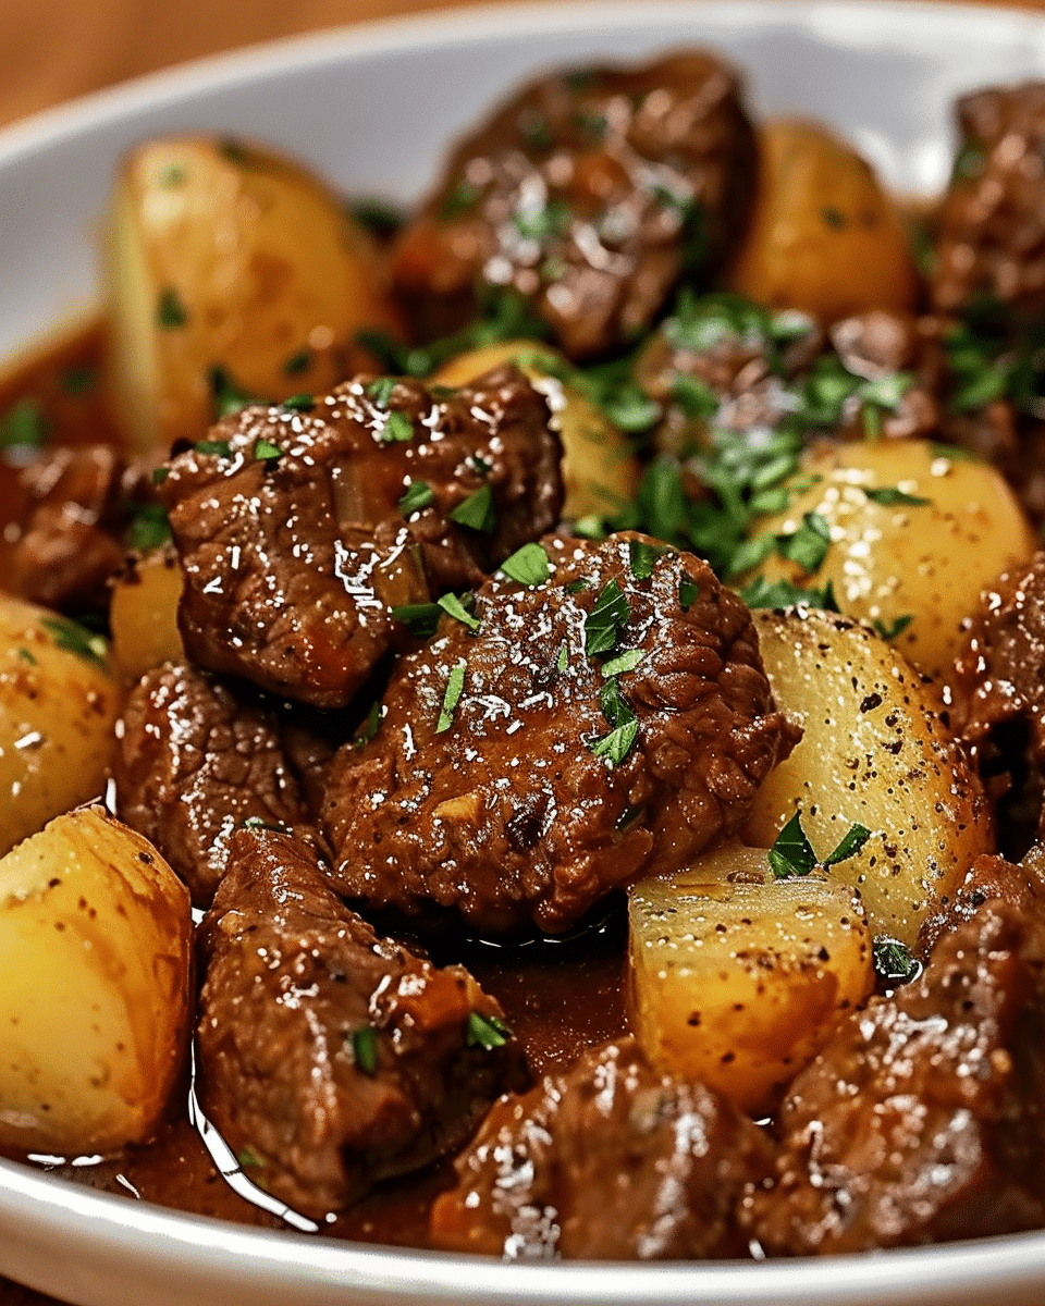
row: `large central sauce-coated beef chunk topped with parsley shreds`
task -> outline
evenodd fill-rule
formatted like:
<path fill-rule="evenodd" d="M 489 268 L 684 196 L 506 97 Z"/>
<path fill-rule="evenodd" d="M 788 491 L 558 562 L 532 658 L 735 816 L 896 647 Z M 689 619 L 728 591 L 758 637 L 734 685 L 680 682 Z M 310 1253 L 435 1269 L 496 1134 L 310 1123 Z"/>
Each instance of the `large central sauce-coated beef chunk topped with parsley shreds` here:
<path fill-rule="evenodd" d="M 559 932 L 735 832 L 790 751 L 750 613 L 705 563 L 643 535 L 543 547 L 547 579 L 487 581 L 478 629 L 444 618 L 334 759 L 338 893 Z"/>

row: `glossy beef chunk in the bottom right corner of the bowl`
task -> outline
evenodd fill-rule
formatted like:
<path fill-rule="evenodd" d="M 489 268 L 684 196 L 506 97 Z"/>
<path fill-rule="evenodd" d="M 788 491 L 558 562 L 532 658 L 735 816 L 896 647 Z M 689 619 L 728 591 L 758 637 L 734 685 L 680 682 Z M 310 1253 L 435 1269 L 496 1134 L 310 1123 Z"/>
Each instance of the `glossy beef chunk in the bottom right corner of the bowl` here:
<path fill-rule="evenodd" d="M 985 905 L 796 1079 L 743 1224 L 780 1255 L 1040 1228 L 1044 1049 L 1045 927 Z"/>

